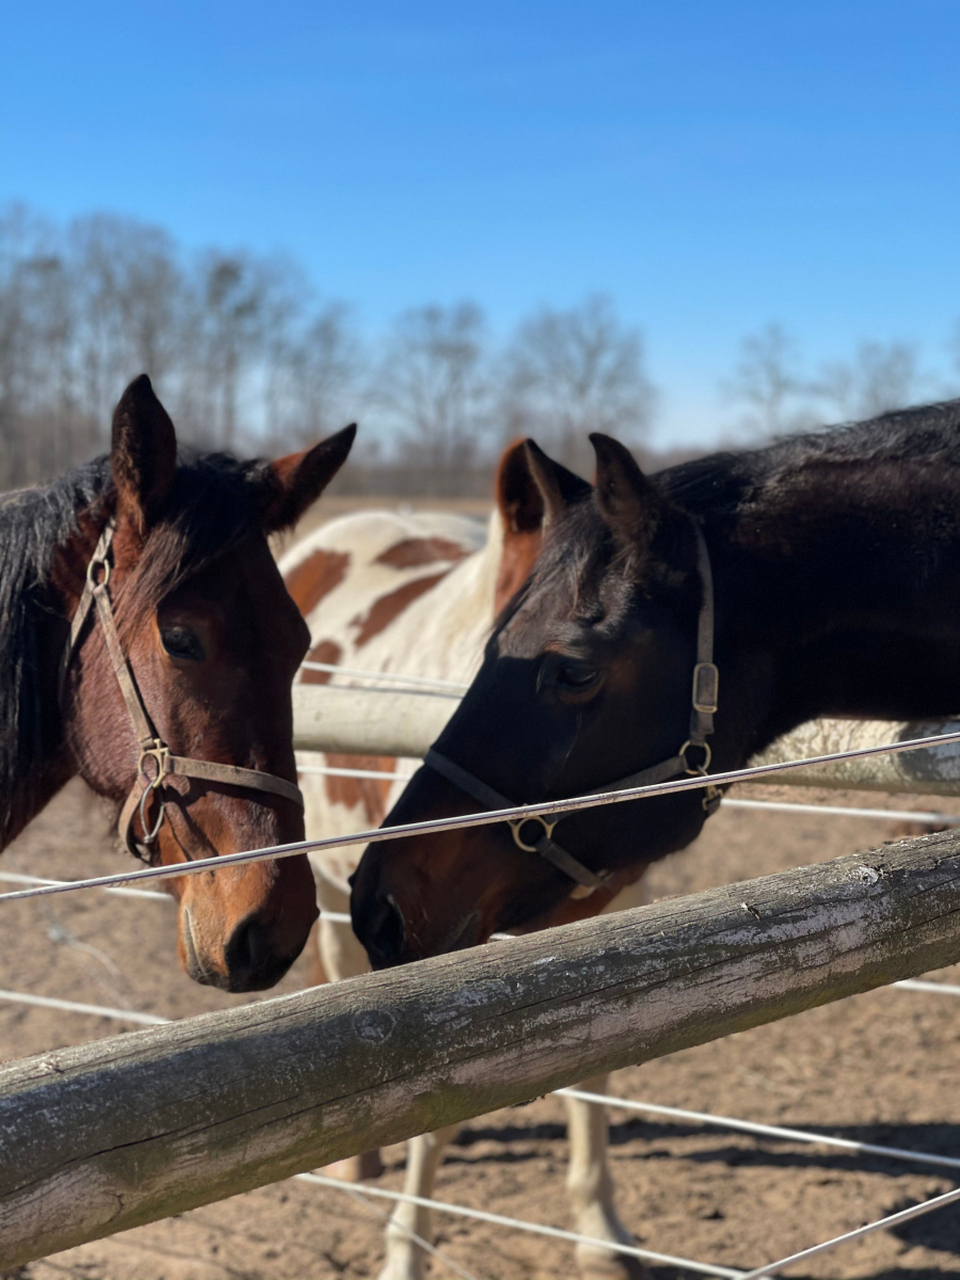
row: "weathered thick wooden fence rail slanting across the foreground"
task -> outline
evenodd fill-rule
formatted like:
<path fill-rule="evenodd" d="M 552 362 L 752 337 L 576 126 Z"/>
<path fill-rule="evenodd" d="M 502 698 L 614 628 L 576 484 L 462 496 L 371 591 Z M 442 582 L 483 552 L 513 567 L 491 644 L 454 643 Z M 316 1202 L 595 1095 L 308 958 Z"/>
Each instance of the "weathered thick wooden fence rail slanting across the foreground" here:
<path fill-rule="evenodd" d="M 960 833 L 0 1070 L 0 1266 L 960 960 Z"/>

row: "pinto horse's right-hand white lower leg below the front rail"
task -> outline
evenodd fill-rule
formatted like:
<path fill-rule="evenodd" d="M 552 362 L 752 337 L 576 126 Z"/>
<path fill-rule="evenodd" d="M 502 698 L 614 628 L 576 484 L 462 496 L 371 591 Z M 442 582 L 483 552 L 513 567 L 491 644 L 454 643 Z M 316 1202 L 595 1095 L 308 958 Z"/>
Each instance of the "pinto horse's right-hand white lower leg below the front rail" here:
<path fill-rule="evenodd" d="M 607 1075 L 584 1080 L 585 1093 L 605 1093 Z M 599 1240 L 634 1244 L 634 1236 L 613 1207 L 613 1179 L 607 1164 L 607 1108 L 596 1102 L 564 1098 L 570 1137 L 567 1190 L 573 1207 L 575 1230 Z M 577 1267 L 584 1280 L 641 1280 L 649 1275 L 639 1258 L 595 1244 L 577 1244 Z"/>

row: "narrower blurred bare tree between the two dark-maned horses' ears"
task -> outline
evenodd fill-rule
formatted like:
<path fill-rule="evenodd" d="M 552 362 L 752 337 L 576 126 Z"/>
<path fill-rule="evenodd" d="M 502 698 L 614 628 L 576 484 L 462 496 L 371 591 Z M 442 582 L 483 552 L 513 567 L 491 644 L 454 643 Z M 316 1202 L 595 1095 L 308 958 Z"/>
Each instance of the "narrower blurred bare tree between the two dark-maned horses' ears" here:
<path fill-rule="evenodd" d="M 426 483 L 470 467 L 489 424 L 483 312 L 472 302 L 404 311 L 376 378 L 378 403 L 396 433 L 402 465 Z M 433 479 L 430 479 L 433 477 Z"/>

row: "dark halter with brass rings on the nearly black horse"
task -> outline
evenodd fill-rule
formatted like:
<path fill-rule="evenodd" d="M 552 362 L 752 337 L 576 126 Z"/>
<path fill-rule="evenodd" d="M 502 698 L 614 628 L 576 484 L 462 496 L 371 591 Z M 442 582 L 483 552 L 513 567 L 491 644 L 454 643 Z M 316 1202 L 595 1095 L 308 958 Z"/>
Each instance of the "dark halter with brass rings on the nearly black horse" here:
<path fill-rule="evenodd" d="M 677 777 L 681 773 L 707 777 L 707 771 L 710 765 L 710 746 L 707 737 L 713 732 L 713 717 L 717 712 L 717 695 L 719 690 L 719 672 L 713 662 L 713 572 L 710 570 L 710 553 L 707 549 L 700 524 L 692 516 L 690 520 L 696 534 L 696 567 L 700 573 L 703 594 L 696 622 L 696 666 L 694 667 L 694 682 L 690 695 L 691 710 L 687 739 L 677 754 L 672 755 L 668 760 L 652 764 L 646 769 L 640 769 L 639 773 L 628 773 L 625 778 L 617 778 L 616 782 L 611 782 L 607 786 L 594 787 L 589 795 L 608 795 L 612 791 L 623 791 L 627 787 L 650 786 L 655 782 L 666 782 L 668 778 Z M 698 764 L 691 763 L 687 756 L 687 751 L 691 749 L 703 754 L 703 759 Z M 472 796 L 474 800 L 479 800 L 480 804 L 486 805 L 488 809 L 512 809 L 516 805 L 515 800 L 500 795 L 499 791 L 488 786 L 486 782 L 481 782 L 480 778 L 475 778 L 472 773 L 461 768 L 460 764 L 454 764 L 453 760 L 442 755 L 435 748 L 430 748 L 426 753 L 424 764 L 447 778 L 454 787 L 460 787 L 466 795 Z M 707 786 L 701 803 L 708 814 L 714 813 L 721 803 L 719 790 L 714 786 Z M 520 849 L 545 858 L 548 863 L 552 863 L 564 876 L 576 881 L 577 884 L 584 886 L 588 892 L 600 888 L 609 873 L 591 872 L 589 867 L 584 867 L 581 861 L 567 852 L 553 838 L 553 829 L 562 818 L 563 814 L 559 814 L 550 820 L 549 817 L 538 814 L 531 818 L 507 819 L 507 826 L 513 835 L 513 842 Z M 521 831 L 529 822 L 539 822 L 543 827 L 543 833 L 532 842 L 521 838 Z M 585 895 L 576 893 L 575 891 L 575 896 Z"/>

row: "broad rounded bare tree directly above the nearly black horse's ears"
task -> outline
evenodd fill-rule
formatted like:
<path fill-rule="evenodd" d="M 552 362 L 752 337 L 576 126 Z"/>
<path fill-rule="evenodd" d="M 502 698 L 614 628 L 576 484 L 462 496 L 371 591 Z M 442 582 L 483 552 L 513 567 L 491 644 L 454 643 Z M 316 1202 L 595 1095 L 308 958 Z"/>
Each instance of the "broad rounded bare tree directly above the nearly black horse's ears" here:
<path fill-rule="evenodd" d="M 535 435 L 568 466 L 593 466 L 590 431 L 637 444 L 649 429 L 657 393 L 644 372 L 643 340 L 603 294 L 525 320 L 503 365 L 504 434 Z"/>

